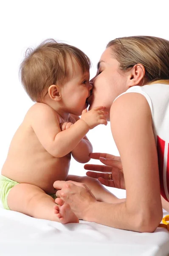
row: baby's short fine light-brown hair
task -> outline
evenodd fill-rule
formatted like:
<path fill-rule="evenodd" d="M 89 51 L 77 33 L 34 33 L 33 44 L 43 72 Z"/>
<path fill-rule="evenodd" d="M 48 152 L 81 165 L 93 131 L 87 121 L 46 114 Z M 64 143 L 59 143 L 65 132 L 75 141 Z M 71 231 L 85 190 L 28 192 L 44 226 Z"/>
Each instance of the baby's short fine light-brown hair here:
<path fill-rule="evenodd" d="M 90 59 L 80 49 L 58 43 L 54 39 L 43 41 L 36 49 L 28 48 L 20 65 L 20 77 L 28 96 L 41 101 L 52 84 L 63 84 L 68 80 L 68 58 L 73 58 L 86 73 L 90 70 Z"/>

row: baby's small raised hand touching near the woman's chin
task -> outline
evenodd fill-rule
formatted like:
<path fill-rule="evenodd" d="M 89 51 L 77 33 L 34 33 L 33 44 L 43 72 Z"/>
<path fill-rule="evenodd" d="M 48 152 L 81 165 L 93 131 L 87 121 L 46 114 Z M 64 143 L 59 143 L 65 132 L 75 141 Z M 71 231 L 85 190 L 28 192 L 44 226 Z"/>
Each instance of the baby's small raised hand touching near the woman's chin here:
<path fill-rule="evenodd" d="M 87 112 L 87 109 L 82 111 L 81 119 L 84 120 L 90 129 L 93 129 L 97 125 L 107 125 L 108 113 L 104 111 L 103 106 L 99 106 L 91 109 Z"/>

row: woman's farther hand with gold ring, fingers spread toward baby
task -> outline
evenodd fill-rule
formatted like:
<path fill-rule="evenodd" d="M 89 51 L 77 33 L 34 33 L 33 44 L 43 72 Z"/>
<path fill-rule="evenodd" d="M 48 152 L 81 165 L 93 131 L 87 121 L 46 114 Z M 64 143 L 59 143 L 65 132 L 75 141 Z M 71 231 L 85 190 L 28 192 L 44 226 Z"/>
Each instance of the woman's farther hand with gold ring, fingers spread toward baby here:
<path fill-rule="evenodd" d="M 98 159 L 104 165 L 85 164 L 86 175 L 98 179 L 101 184 L 118 189 L 125 189 L 123 167 L 120 157 L 106 153 L 90 153 L 90 158 Z M 109 180 L 109 173 L 112 173 L 112 180 Z"/>

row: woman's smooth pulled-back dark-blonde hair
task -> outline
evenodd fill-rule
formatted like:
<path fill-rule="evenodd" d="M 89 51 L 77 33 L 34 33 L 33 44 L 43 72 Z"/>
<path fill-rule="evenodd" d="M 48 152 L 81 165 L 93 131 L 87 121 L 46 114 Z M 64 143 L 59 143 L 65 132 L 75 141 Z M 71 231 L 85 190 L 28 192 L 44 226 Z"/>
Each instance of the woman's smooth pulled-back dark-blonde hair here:
<path fill-rule="evenodd" d="M 107 44 L 108 47 L 112 47 L 113 56 L 120 63 L 121 70 L 128 70 L 139 63 L 144 66 L 143 84 L 169 84 L 168 40 L 153 36 L 131 36 L 116 38 Z"/>

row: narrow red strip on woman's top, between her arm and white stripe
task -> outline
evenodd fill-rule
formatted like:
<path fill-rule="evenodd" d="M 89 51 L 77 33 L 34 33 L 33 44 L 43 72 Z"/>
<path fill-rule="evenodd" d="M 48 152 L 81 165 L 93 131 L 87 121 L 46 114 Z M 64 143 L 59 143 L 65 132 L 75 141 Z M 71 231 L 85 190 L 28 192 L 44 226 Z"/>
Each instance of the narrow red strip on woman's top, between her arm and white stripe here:
<path fill-rule="evenodd" d="M 168 201 L 165 190 L 164 190 L 164 184 L 163 184 L 164 148 L 165 148 L 165 141 L 162 140 L 160 137 L 157 137 L 158 168 L 159 168 L 159 175 L 160 175 L 161 195 L 166 201 Z"/>

